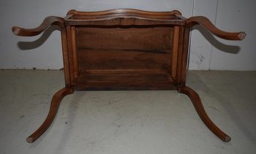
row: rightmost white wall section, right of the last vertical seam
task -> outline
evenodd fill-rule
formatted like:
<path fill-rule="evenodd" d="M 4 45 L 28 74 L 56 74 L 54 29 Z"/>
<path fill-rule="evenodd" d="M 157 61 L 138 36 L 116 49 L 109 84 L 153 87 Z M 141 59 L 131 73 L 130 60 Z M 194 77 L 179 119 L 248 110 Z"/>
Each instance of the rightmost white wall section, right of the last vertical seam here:
<path fill-rule="evenodd" d="M 240 47 L 238 53 L 236 53 L 236 49 L 234 49 L 234 52 L 232 52 L 232 50 L 222 52 L 216 47 L 213 47 L 210 69 L 256 70 L 255 15 L 255 0 L 219 1 L 216 26 L 229 31 L 243 30 L 246 31 L 247 36 L 242 42 L 227 42 L 221 40 L 227 45 L 238 45 Z M 225 21 L 225 19 L 227 19 L 227 21 Z M 225 68 L 222 66 L 225 66 Z"/>

